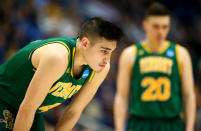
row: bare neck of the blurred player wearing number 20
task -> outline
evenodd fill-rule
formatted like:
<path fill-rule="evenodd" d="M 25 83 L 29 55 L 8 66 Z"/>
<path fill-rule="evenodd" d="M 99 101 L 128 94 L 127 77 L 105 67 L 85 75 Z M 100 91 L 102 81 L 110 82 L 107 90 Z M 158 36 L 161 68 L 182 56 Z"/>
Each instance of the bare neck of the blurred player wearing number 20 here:
<path fill-rule="evenodd" d="M 144 43 L 149 49 L 151 49 L 152 52 L 158 53 L 161 50 L 161 48 L 163 48 L 163 46 L 165 45 L 165 40 L 156 42 L 150 39 L 146 39 Z"/>

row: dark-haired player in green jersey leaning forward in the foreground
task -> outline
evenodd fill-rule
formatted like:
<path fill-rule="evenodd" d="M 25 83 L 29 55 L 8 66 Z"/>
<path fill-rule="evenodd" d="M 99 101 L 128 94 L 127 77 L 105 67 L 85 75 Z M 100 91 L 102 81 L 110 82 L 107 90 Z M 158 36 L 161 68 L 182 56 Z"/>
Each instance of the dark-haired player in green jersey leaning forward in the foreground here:
<path fill-rule="evenodd" d="M 44 130 L 42 112 L 77 93 L 56 126 L 71 130 L 105 79 L 121 36 L 113 23 L 92 18 L 79 38 L 35 41 L 18 51 L 0 66 L 0 130 Z"/>

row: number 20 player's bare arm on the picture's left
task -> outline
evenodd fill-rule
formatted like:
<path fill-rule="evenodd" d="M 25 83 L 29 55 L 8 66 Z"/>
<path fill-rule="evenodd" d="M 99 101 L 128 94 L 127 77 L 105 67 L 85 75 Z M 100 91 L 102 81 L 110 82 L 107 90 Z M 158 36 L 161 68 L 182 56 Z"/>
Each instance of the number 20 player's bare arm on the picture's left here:
<path fill-rule="evenodd" d="M 132 45 L 126 48 L 120 57 L 117 76 L 117 93 L 114 102 L 114 120 L 116 131 L 123 131 L 127 118 L 128 96 L 130 90 L 132 66 L 135 61 L 135 54 L 136 49 L 135 46 Z"/>

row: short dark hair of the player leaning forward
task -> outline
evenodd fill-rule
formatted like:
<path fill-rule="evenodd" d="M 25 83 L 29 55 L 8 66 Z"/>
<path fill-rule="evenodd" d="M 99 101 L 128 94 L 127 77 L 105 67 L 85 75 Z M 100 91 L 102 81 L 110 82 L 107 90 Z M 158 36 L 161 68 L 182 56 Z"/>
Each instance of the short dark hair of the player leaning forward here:
<path fill-rule="evenodd" d="M 123 31 L 114 23 L 101 18 L 94 17 L 87 20 L 82 26 L 79 33 L 79 38 L 83 37 L 104 37 L 107 40 L 121 40 Z"/>

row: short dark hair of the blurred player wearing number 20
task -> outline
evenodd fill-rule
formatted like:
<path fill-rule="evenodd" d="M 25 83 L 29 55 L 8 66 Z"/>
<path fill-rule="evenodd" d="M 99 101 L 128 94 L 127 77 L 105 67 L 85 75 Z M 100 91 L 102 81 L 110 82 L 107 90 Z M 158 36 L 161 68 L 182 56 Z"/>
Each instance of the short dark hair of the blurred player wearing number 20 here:
<path fill-rule="evenodd" d="M 170 11 L 163 4 L 154 2 L 146 10 L 145 18 L 149 16 L 170 16 Z"/>

